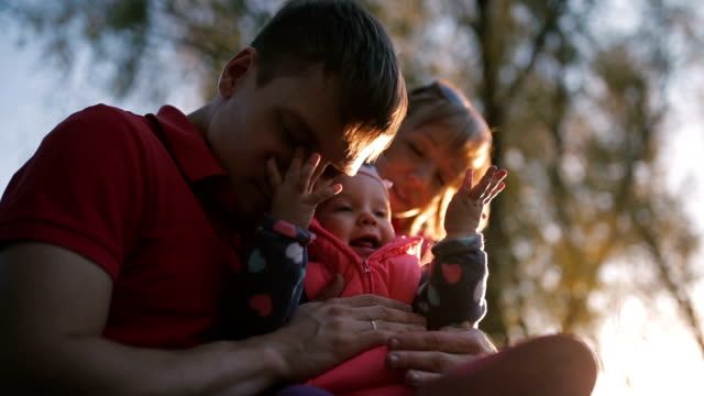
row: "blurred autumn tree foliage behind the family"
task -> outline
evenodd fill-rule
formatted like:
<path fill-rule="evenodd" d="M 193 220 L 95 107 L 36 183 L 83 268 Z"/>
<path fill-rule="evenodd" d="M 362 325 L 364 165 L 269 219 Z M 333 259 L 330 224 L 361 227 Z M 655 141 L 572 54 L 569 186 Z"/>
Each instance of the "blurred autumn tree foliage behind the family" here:
<path fill-rule="evenodd" d="M 606 268 L 617 266 L 644 296 L 671 296 L 704 351 L 688 294 L 696 280 L 690 256 L 697 239 L 681 197 L 661 183 L 658 160 L 669 132 L 670 79 L 701 61 L 696 6 L 364 2 L 392 33 L 410 86 L 433 77 L 454 81 L 496 131 L 494 160 L 510 176 L 487 230 L 484 330 L 499 343 L 550 330 L 593 336 L 609 306 L 596 297 L 620 297 L 605 289 L 617 287 L 605 282 Z M 24 1 L 0 11 L 66 67 L 89 44 L 96 64 L 117 65 L 116 96 L 143 92 L 165 68 L 177 67 L 196 76 L 208 97 L 222 65 L 280 3 Z M 644 267 L 652 282 L 638 282 Z"/>

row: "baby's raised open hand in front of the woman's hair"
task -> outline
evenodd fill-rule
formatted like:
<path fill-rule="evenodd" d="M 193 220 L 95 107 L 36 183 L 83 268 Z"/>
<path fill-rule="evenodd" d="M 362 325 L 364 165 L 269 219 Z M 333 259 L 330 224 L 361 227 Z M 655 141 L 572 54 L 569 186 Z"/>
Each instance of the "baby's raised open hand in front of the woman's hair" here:
<path fill-rule="evenodd" d="M 491 166 L 484 177 L 473 185 L 474 172 L 469 168 L 464 174 L 462 187 L 452 197 L 444 216 L 444 230 L 448 238 L 464 238 L 476 234 L 484 207 L 488 205 L 506 185 L 506 169 Z"/>

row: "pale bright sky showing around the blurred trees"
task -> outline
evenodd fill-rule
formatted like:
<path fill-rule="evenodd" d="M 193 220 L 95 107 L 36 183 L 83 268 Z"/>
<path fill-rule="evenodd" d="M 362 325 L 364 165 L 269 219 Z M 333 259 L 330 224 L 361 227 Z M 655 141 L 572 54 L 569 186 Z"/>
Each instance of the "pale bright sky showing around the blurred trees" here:
<path fill-rule="evenodd" d="M 154 112 L 148 99 L 114 100 L 90 69 L 66 74 L 47 66 L 42 47 L 15 45 L 12 25 L 0 28 L 0 191 L 12 174 L 32 155 L 41 139 L 70 113 L 105 102 L 135 113 Z M 685 195 L 686 210 L 704 235 L 704 74 L 674 81 L 670 92 L 676 109 L 669 121 L 669 139 L 660 160 L 667 185 Z M 184 84 L 167 102 L 188 112 L 198 105 L 197 87 Z M 704 253 L 696 267 L 704 275 Z M 704 287 L 693 290 L 700 317 L 704 317 Z M 654 309 L 653 309 L 654 308 Z M 653 314 L 654 312 L 654 314 Z M 704 320 L 704 318 L 702 318 Z M 595 396 L 704 395 L 704 361 L 692 337 L 682 327 L 672 301 L 656 307 L 626 297 L 606 316 L 600 330 L 602 373 Z"/>

